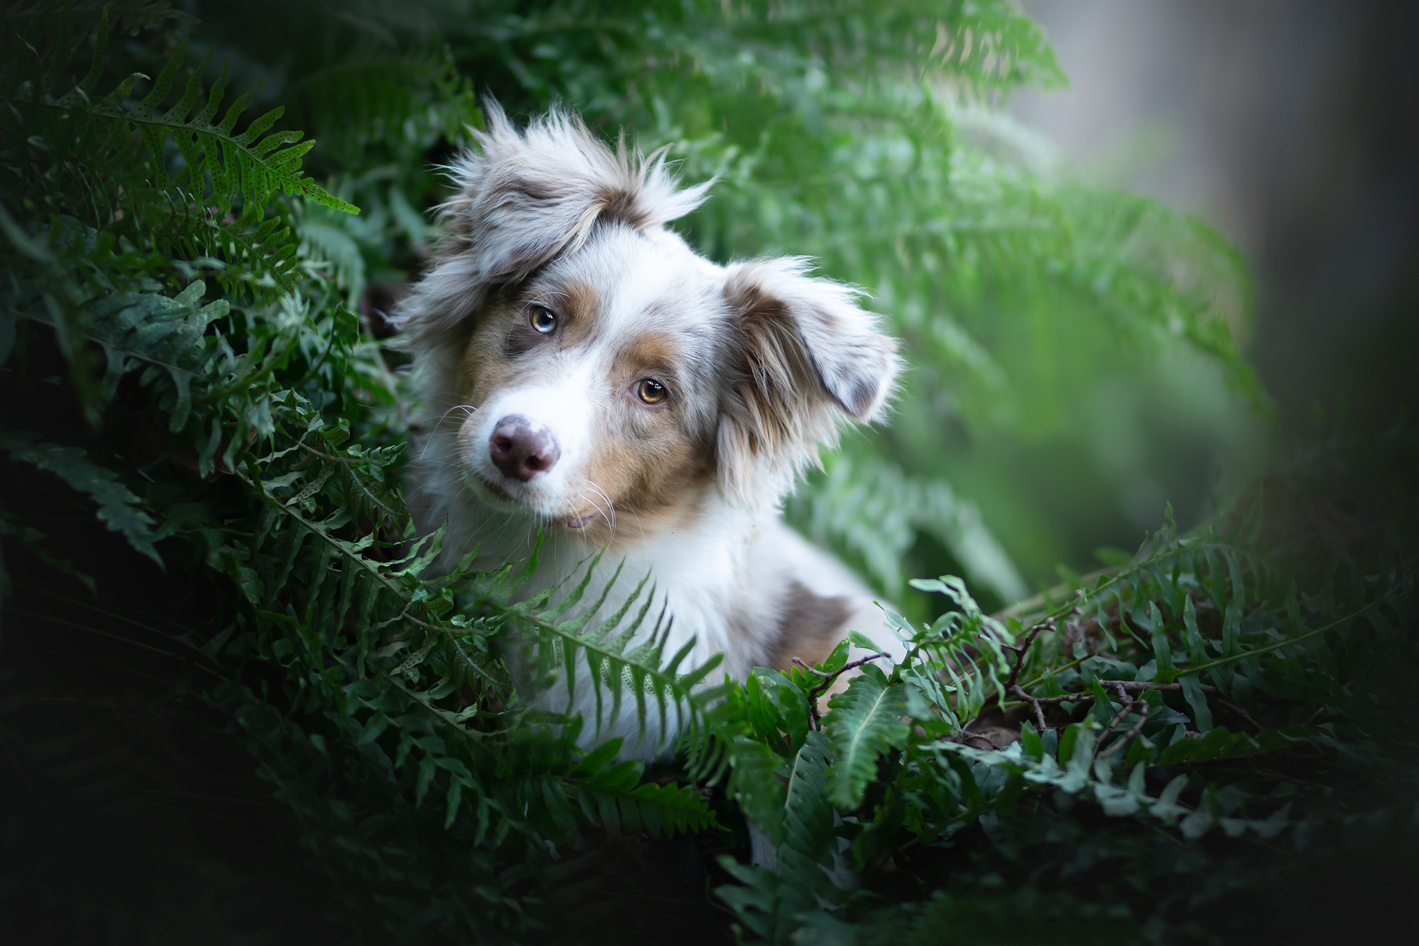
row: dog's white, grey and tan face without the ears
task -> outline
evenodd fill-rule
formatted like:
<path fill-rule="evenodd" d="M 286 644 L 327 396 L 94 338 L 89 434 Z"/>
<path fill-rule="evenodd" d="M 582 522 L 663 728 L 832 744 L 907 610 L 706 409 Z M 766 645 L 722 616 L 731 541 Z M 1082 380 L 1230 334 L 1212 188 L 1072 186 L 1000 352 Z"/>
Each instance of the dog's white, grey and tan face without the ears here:
<path fill-rule="evenodd" d="M 464 477 L 495 505 L 604 542 L 714 479 L 722 277 L 668 234 L 604 227 L 502 286 L 461 353 Z"/>

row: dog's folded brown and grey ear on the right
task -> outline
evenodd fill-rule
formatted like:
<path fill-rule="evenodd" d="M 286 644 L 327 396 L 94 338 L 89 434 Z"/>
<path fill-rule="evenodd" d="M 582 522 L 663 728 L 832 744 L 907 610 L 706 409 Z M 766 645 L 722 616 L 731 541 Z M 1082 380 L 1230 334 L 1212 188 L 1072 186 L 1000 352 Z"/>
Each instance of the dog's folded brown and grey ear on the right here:
<path fill-rule="evenodd" d="M 885 408 L 901 359 L 897 340 L 857 305 L 857 292 L 805 275 L 799 258 L 731 265 L 725 301 L 732 370 L 719 423 L 721 482 L 735 494 L 753 469 L 782 489 L 839 420 L 873 421 Z M 776 496 L 775 496 L 776 498 Z"/>

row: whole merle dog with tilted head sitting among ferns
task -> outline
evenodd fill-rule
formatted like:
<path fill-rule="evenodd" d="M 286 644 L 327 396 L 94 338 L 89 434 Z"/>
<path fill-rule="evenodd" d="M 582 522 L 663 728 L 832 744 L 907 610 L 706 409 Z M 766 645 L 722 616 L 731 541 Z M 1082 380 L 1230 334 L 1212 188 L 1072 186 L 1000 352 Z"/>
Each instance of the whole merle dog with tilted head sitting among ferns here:
<path fill-rule="evenodd" d="M 897 342 L 803 258 L 691 250 L 667 224 L 714 182 L 681 189 L 664 150 L 613 150 L 562 111 L 521 132 L 485 115 L 392 316 L 423 403 L 410 509 L 423 535 L 447 526 L 431 570 L 536 549 L 531 593 L 600 552 L 593 587 L 617 566 L 647 576 L 666 652 L 692 642 L 690 664 L 721 654 L 739 681 L 820 661 L 849 627 L 900 660 L 866 586 L 779 516 L 841 425 L 883 417 Z M 569 705 L 549 692 L 587 732 L 646 756 L 674 735 L 606 718 L 579 675 Z"/>

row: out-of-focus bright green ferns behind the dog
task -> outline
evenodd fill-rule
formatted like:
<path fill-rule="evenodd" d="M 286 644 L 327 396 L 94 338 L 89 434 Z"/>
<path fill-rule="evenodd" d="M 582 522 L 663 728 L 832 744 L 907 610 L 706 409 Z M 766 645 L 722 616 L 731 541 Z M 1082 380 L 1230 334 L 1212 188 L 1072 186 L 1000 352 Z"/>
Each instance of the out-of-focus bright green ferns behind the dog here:
<path fill-rule="evenodd" d="M 465 143 L 482 92 L 514 115 L 565 101 L 647 152 L 671 145 L 687 180 L 718 176 L 683 224 L 712 258 L 802 254 L 864 286 L 912 372 L 890 428 L 849 443 L 854 478 L 954 498 L 881 529 L 815 481 L 792 513 L 911 613 L 928 617 L 929 599 L 888 557 L 915 549 L 918 572 L 965 572 L 1006 604 L 1053 583 L 1057 562 L 1131 545 L 1168 501 L 1200 521 L 1219 467 L 1236 489 L 1264 455 L 1239 260 L 1196 220 L 1061 179 L 1049 146 L 993 111 L 1023 84 L 1064 81 L 1007 4 L 194 11 L 197 35 L 314 130 L 314 167 L 365 208 L 302 228 L 352 294 L 360 265 L 370 282 L 417 274 L 414 210 L 446 193 L 430 166 Z M 280 52 L 272 18 L 289 27 Z"/>

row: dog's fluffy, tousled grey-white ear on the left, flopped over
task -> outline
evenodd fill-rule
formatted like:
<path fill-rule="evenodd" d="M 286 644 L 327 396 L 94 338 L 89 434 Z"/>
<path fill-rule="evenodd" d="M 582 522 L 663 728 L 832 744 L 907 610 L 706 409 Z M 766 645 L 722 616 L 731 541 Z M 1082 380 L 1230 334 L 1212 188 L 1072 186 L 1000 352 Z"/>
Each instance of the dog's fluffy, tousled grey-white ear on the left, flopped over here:
<path fill-rule="evenodd" d="M 678 190 L 664 150 L 640 157 L 624 140 L 612 150 L 556 109 L 522 133 L 497 102 L 484 113 L 477 150 L 448 169 L 458 194 L 438 208 L 434 267 L 394 315 L 416 350 L 457 336 L 490 289 L 576 250 L 597 223 L 660 227 L 698 207 L 714 183 Z"/>

